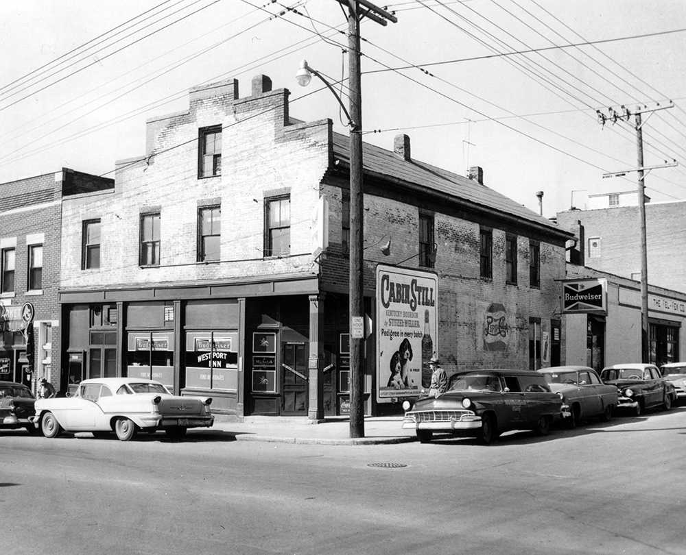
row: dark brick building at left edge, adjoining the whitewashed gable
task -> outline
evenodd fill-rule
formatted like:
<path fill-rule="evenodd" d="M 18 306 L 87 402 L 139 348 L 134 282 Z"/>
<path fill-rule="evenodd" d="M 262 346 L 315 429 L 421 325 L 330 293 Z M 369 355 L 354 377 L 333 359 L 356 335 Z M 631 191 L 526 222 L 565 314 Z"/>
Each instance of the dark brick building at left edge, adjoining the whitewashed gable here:
<path fill-rule="evenodd" d="M 59 384 L 62 199 L 113 186 L 66 168 L 0 184 L 0 380 Z"/>

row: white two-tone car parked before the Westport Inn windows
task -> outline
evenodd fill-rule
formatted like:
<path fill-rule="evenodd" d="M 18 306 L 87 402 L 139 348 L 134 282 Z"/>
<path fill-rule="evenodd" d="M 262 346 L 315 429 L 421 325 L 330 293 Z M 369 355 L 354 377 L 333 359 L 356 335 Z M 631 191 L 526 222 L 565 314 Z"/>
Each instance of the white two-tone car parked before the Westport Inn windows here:
<path fill-rule="evenodd" d="M 121 441 L 136 433 L 165 430 L 173 439 L 188 428 L 214 423 L 211 397 L 171 395 L 160 382 L 141 378 L 100 378 L 82 381 L 72 397 L 36 401 L 31 421 L 46 437 L 67 432 L 93 432 L 102 437 L 115 432 Z"/>

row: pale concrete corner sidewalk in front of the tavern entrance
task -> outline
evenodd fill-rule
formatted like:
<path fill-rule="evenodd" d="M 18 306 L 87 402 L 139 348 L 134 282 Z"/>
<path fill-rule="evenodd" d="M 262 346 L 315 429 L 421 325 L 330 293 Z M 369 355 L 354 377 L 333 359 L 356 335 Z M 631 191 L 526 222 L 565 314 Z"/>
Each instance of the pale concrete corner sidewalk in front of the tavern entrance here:
<path fill-rule="evenodd" d="M 215 415 L 212 429 L 235 434 L 236 441 L 311 443 L 319 445 L 379 445 L 416 441 L 414 430 L 403 430 L 403 417 L 366 417 L 364 438 L 352 439 L 347 418 L 314 423 L 307 417 L 234 417 Z"/>

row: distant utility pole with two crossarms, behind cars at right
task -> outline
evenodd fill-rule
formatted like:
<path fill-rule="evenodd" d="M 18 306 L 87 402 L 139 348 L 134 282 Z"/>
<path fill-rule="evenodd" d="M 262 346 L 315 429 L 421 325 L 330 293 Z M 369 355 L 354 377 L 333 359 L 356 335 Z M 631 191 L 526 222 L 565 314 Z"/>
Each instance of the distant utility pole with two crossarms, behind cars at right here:
<path fill-rule="evenodd" d="M 643 106 L 641 110 L 640 106 L 636 107 L 634 112 L 635 119 L 635 129 L 636 129 L 636 143 L 637 143 L 637 153 L 638 153 L 638 167 L 636 169 L 629 169 L 624 171 L 618 171 L 614 173 L 606 173 L 603 175 L 605 177 L 619 177 L 629 173 L 631 171 L 638 172 L 638 195 L 639 195 L 639 217 L 640 217 L 640 229 L 641 229 L 641 357 L 644 363 L 650 362 L 650 322 L 648 321 L 648 238 L 646 234 L 646 182 L 645 177 L 647 175 L 646 171 L 650 173 L 650 170 L 657 168 L 670 168 L 676 166 L 676 160 L 671 164 L 661 164 L 659 166 L 644 167 L 643 166 L 643 122 L 641 121 L 641 114 L 657 112 L 657 110 L 665 110 L 666 108 L 672 108 L 674 103 L 670 102 L 670 106 L 660 106 L 657 108 L 648 109 Z M 607 121 L 612 121 L 617 123 L 617 121 L 629 121 L 632 115 L 629 110 L 622 106 L 623 113 L 620 114 L 615 112 L 612 108 L 609 108 L 609 116 L 605 116 L 600 110 L 598 112 L 598 123 L 605 125 Z M 648 116 L 648 118 L 650 117 Z M 646 121 L 648 121 L 646 118 Z"/>

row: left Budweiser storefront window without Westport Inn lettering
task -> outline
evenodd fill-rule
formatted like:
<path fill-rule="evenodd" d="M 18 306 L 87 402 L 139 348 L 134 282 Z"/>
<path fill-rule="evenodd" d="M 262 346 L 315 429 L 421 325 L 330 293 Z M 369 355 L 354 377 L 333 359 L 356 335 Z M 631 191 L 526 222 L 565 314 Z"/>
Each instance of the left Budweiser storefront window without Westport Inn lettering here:
<path fill-rule="evenodd" d="M 174 389 L 174 334 L 132 332 L 128 334 L 129 378 L 147 378 Z"/>

